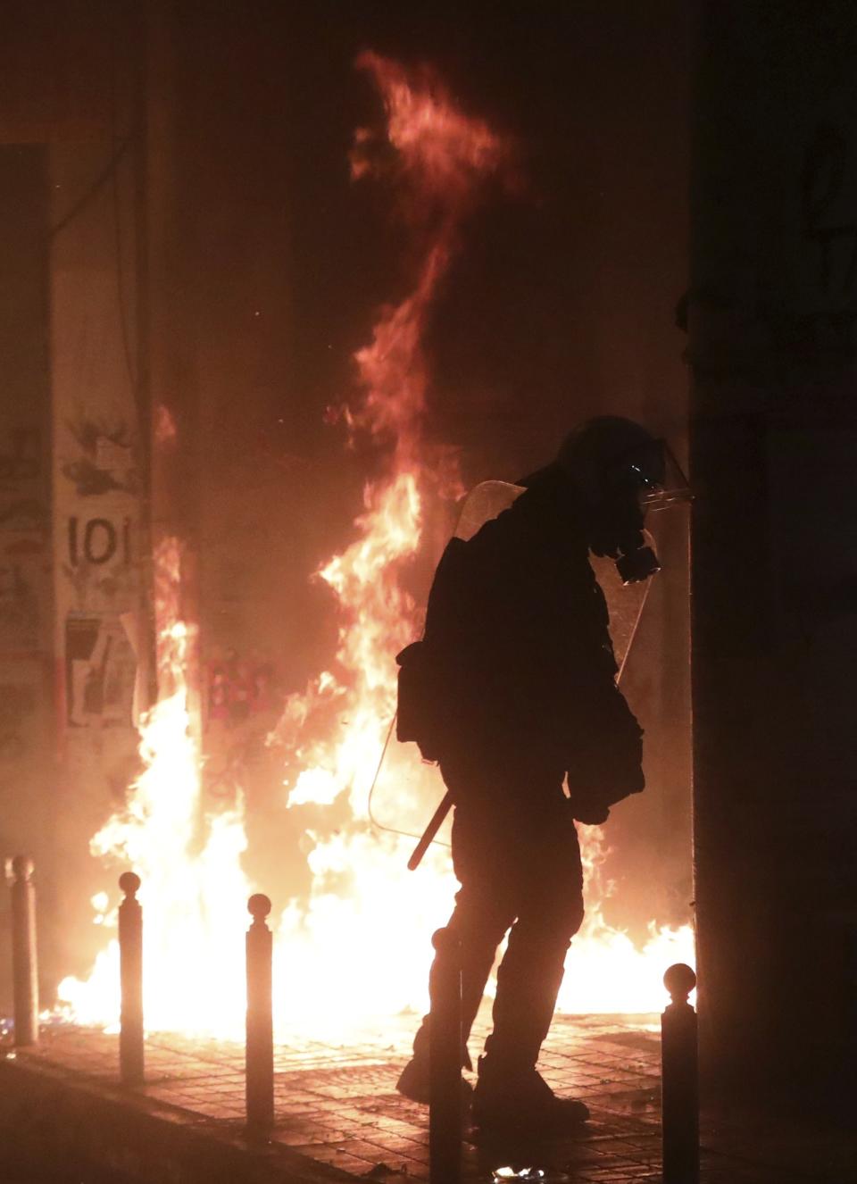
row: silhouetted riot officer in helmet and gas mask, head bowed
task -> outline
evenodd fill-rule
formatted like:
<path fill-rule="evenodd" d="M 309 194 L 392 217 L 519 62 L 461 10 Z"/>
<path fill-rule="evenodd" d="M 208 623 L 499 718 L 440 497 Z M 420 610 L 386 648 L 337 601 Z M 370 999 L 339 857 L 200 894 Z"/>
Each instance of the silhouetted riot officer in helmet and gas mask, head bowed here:
<path fill-rule="evenodd" d="M 643 519 L 671 500 L 668 462 L 663 442 L 630 420 L 581 425 L 509 509 L 469 541 L 451 540 L 424 638 L 400 655 L 399 735 L 439 760 L 455 804 L 462 887 L 449 924 L 464 951 L 465 1042 L 509 933 L 473 1096 L 482 1127 L 552 1131 L 588 1117 L 535 1069 L 584 918 L 574 819 L 603 823 L 644 787 L 643 734 L 616 686 L 588 555 L 614 559 L 625 583 L 658 571 Z M 430 1023 L 398 1083 L 418 1101 L 427 1101 Z"/>

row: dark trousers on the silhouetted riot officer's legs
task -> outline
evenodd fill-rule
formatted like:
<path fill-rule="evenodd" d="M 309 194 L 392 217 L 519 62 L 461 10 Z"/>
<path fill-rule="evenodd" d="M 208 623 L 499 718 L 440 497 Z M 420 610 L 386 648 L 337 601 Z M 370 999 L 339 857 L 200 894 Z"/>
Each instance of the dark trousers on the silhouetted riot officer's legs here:
<path fill-rule="evenodd" d="M 566 953 L 584 919 L 580 847 L 562 771 L 531 761 L 494 764 L 490 772 L 484 764 L 478 772 L 442 770 L 456 802 L 452 863 L 462 887 L 449 926 L 462 940 L 464 1042 L 508 932 L 485 1051 L 510 1073 L 527 1072 L 539 1058 Z M 427 1045 L 428 1023 L 431 1016 L 417 1034 L 418 1053 Z"/>

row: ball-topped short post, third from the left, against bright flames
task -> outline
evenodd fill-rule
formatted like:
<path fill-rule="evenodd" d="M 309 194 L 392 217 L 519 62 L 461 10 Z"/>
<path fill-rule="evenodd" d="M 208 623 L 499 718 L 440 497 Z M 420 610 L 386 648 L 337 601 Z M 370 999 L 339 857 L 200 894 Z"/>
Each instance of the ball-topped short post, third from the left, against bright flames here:
<path fill-rule="evenodd" d="M 257 893 L 247 901 L 253 924 L 247 929 L 247 1137 L 268 1143 L 273 1130 L 273 1015 L 271 953 L 273 940 L 265 918 L 271 912 L 268 896 Z"/>

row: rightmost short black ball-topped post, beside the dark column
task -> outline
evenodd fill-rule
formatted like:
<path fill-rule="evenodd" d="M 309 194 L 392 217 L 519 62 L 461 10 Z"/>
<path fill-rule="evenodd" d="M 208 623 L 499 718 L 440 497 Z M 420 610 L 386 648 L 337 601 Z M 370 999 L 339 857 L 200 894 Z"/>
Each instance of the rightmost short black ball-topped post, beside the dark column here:
<path fill-rule="evenodd" d="M 696 1012 L 688 996 L 696 974 L 676 963 L 664 974 L 672 1003 L 661 1017 L 664 1184 L 698 1184 L 700 1080 Z"/>

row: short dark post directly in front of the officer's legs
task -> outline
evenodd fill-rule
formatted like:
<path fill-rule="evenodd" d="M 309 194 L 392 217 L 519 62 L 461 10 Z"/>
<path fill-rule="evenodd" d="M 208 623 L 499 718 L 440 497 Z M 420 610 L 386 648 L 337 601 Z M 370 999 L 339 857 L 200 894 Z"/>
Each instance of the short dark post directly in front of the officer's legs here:
<path fill-rule="evenodd" d="M 462 1178 L 462 942 L 450 929 L 432 938 L 437 951 L 428 978 L 428 1179 Z"/>

